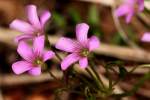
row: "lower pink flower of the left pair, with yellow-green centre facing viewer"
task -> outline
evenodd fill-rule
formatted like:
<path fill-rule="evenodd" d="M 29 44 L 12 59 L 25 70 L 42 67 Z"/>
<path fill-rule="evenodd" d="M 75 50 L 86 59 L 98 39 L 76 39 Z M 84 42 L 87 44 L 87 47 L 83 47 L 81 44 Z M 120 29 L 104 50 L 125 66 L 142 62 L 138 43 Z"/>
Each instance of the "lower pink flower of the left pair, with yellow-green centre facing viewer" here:
<path fill-rule="evenodd" d="M 16 74 L 28 71 L 31 75 L 40 75 L 44 62 L 54 56 L 52 51 L 44 51 L 44 36 L 34 38 L 33 49 L 26 42 L 19 42 L 17 52 L 23 60 L 13 63 L 12 69 Z"/>

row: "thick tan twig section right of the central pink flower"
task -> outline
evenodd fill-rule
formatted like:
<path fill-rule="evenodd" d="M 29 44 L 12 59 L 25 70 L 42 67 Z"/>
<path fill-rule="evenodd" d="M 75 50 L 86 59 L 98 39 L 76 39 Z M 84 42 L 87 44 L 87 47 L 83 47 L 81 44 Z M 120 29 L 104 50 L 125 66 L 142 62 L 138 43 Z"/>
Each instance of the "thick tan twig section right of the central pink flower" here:
<path fill-rule="evenodd" d="M 136 62 L 150 62 L 150 53 L 141 49 L 101 44 L 95 52 L 100 55 Z"/>

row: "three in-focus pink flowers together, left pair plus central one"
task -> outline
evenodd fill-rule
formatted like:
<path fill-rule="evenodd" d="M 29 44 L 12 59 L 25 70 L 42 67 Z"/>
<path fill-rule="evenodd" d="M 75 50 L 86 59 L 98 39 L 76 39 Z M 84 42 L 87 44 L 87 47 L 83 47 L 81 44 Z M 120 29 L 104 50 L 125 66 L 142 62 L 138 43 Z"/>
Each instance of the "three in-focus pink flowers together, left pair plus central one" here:
<path fill-rule="evenodd" d="M 45 61 L 54 57 L 53 51 L 44 50 L 44 26 L 50 18 L 49 11 L 44 11 L 38 17 L 35 5 L 29 5 L 26 8 L 29 22 L 19 19 L 14 20 L 10 27 L 23 33 L 15 38 L 18 43 L 17 52 L 23 58 L 12 64 L 14 73 L 21 74 L 28 72 L 31 75 L 40 75 L 41 67 L 45 65 Z M 99 40 L 96 36 L 87 38 L 89 26 L 81 23 L 76 26 L 77 40 L 66 37 L 60 38 L 56 43 L 56 48 L 71 53 L 61 62 L 62 70 L 66 70 L 71 64 L 79 60 L 81 68 L 88 66 L 88 56 L 91 51 L 99 47 Z M 30 47 L 27 41 L 31 40 L 33 47 Z M 65 44 L 65 45 L 64 45 Z"/>

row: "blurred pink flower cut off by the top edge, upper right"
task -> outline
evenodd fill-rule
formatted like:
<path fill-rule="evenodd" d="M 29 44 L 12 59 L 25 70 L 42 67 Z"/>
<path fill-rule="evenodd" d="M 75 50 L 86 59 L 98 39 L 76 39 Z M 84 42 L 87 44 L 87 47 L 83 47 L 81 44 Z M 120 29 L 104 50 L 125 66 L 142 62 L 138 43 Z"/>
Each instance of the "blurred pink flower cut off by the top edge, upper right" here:
<path fill-rule="evenodd" d="M 124 0 L 124 3 L 115 11 L 117 17 L 126 16 L 126 23 L 131 21 L 136 12 L 144 10 L 144 0 Z"/>

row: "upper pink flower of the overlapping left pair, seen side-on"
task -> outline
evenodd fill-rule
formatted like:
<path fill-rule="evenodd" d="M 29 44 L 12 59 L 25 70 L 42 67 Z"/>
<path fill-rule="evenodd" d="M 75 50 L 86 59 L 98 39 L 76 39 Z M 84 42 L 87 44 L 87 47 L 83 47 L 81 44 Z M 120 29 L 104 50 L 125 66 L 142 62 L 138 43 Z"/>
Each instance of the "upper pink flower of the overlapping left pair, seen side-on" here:
<path fill-rule="evenodd" d="M 16 37 L 15 41 L 33 39 L 36 36 L 44 34 L 44 25 L 50 18 L 51 14 L 49 11 L 44 11 L 40 17 L 37 15 L 37 8 L 35 5 L 28 5 L 26 7 L 27 17 L 29 22 L 25 22 L 19 19 L 15 19 L 10 27 L 18 30 L 23 34 Z"/>

